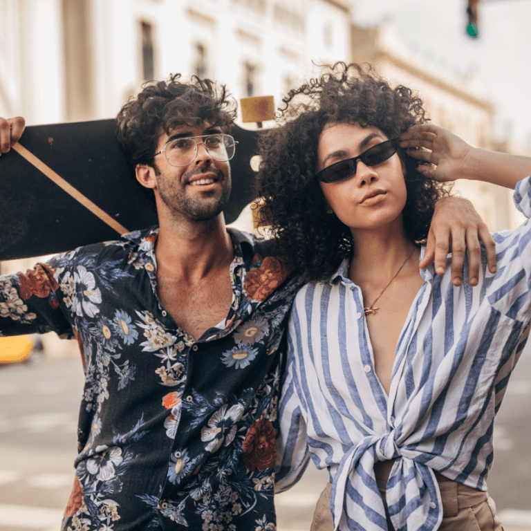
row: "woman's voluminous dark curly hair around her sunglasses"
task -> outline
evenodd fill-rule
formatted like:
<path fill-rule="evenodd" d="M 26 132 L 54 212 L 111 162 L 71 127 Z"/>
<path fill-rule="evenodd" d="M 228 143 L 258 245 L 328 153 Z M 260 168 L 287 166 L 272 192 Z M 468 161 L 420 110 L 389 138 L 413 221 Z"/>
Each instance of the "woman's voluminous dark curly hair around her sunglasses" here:
<path fill-rule="evenodd" d="M 326 280 L 353 251 L 349 228 L 326 212 L 317 171 L 317 145 L 326 124 L 346 122 L 378 127 L 398 138 L 427 121 L 422 100 L 405 86 L 391 88 L 368 64 L 337 62 L 283 98 L 279 127 L 260 138 L 257 175 L 260 216 L 271 225 L 277 254 L 304 279 Z M 407 201 L 402 211 L 411 241 L 426 239 L 444 185 L 423 176 L 419 162 L 400 150 L 406 166 Z"/>

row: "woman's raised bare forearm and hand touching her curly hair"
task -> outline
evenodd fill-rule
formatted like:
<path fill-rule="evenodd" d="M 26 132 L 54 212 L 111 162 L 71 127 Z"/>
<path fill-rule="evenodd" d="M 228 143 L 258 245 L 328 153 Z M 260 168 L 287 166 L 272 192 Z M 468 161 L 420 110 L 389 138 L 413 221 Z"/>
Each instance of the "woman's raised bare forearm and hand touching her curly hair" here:
<path fill-rule="evenodd" d="M 482 180 L 514 189 L 519 180 L 531 175 L 531 158 L 472 147 L 447 129 L 434 124 L 416 125 L 400 137 L 408 155 L 428 162 L 420 166 L 425 176 L 447 182 L 456 179 Z"/>

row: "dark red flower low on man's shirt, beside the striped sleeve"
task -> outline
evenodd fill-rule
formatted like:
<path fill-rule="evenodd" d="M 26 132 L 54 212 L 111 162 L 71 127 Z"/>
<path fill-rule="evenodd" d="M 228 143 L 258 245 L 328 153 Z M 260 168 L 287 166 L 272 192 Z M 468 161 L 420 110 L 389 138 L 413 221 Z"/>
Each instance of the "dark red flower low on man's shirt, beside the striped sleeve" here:
<path fill-rule="evenodd" d="M 243 441 L 243 463 L 254 472 L 259 469 L 274 468 L 277 455 L 277 439 L 274 427 L 269 420 L 261 418 L 254 422 Z"/>

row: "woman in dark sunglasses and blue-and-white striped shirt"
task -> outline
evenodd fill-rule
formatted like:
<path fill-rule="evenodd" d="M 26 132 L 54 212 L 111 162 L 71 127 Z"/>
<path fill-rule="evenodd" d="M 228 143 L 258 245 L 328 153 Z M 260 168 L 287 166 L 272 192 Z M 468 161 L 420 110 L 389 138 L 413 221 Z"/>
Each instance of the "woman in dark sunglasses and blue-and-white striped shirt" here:
<path fill-rule="evenodd" d="M 531 160 L 425 124 L 409 89 L 355 65 L 292 91 L 283 118 L 262 146 L 261 213 L 310 282 L 290 319 L 277 490 L 309 455 L 330 472 L 313 530 L 500 530 L 485 478 L 529 330 L 531 226 L 495 235 L 499 272 L 484 249 L 456 286 L 419 265 L 441 182 L 514 187 Z M 515 193 L 528 216 L 530 188 Z"/>

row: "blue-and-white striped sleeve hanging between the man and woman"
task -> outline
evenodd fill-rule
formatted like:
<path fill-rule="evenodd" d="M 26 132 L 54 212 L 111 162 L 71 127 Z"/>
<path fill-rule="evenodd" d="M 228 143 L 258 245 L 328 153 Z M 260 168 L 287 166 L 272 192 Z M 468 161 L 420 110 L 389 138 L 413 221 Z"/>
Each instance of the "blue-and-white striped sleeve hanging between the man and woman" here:
<path fill-rule="evenodd" d="M 279 407 L 280 436 L 277 441 L 277 467 L 274 476 L 274 492 L 289 489 L 308 466 L 310 454 L 306 441 L 306 421 L 297 395 L 293 378 L 292 342 L 288 339 L 288 368 L 282 385 Z"/>

